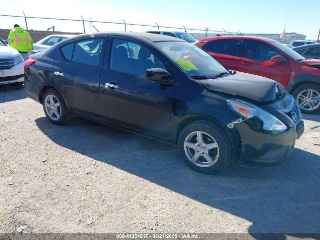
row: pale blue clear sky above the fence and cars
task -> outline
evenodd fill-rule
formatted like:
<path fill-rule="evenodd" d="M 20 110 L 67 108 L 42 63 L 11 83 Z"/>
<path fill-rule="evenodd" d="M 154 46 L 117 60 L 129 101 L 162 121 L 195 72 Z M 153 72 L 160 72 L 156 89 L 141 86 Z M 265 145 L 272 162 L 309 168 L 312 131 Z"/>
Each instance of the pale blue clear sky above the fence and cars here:
<path fill-rule="evenodd" d="M 27 3 L 27 4 L 26 4 Z M 101 20 L 162 26 L 219 30 L 242 33 L 304 34 L 317 39 L 320 30 L 320 0 L 12 0 L 2 1 L 0 14 Z M 0 16 L 0 29 L 17 23 L 25 28 L 23 18 Z M 28 19 L 29 29 L 83 32 L 81 22 Z M 99 31 L 123 31 L 119 24 L 93 23 Z M 86 32 L 90 24 L 86 23 Z M 161 29 L 161 28 L 160 28 Z M 164 28 L 163 28 L 164 29 Z M 155 27 L 127 26 L 127 31 L 156 30 Z M 94 32 L 92 28 L 92 32 Z M 199 31 L 188 31 L 199 32 Z"/>

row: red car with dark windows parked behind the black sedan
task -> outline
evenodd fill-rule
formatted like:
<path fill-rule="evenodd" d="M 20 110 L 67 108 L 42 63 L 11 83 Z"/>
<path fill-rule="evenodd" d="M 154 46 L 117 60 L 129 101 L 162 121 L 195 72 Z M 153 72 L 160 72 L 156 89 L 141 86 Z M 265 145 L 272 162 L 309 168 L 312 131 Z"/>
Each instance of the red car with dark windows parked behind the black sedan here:
<path fill-rule="evenodd" d="M 302 112 L 320 109 L 320 60 L 306 59 L 278 41 L 261 37 L 209 37 L 195 44 L 229 69 L 281 83 Z"/>

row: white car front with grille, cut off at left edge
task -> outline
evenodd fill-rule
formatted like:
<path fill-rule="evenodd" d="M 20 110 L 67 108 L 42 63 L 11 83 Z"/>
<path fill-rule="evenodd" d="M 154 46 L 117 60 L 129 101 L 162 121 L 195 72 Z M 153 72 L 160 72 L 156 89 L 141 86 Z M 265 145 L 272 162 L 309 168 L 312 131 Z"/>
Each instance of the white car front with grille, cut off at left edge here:
<path fill-rule="evenodd" d="M 0 85 L 23 84 L 24 60 L 21 54 L 0 38 Z"/>

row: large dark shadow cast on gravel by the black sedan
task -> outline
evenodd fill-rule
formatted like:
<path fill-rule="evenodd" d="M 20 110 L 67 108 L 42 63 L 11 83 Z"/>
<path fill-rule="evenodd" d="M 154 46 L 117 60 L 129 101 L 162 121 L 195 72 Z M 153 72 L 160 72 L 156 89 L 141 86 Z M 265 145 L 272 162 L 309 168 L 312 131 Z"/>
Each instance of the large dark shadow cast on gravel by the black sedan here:
<path fill-rule="evenodd" d="M 281 166 L 204 175 L 188 168 L 177 148 L 165 143 L 90 121 L 56 126 L 43 117 L 35 122 L 62 147 L 252 222 L 249 233 L 320 230 L 318 155 L 295 149 Z"/>

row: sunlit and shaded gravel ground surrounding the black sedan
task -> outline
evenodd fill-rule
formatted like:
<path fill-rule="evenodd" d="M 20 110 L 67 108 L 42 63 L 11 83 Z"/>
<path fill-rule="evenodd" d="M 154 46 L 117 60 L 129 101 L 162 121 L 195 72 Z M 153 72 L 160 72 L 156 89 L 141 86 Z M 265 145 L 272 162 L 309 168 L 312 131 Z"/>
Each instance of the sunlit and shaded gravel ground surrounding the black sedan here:
<path fill-rule="evenodd" d="M 303 118 L 285 164 L 203 175 L 174 146 L 53 125 L 23 87 L 0 86 L 0 233 L 319 232 L 320 115 Z"/>

